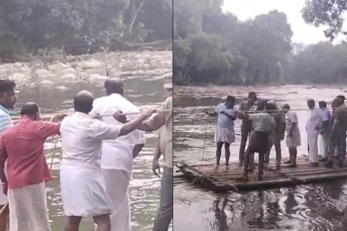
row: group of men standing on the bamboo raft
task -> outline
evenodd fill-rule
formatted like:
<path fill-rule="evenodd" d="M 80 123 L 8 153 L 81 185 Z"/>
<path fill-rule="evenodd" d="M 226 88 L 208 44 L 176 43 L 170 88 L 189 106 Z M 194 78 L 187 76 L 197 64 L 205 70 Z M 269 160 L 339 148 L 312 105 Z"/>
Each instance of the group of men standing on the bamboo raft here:
<path fill-rule="evenodd" d="M 229 165 L 230 144 L 235 141 L 234 120 L 242 119 L 241 141 L 239 148 L 239 166 L 244 168 L 244 178 L 248 179 L 248 172 L 252 172 L 254 153 L 259 153 L 258 178 L 262 177 L 264 163 L 269 163 L 270 150 L 275 146 L 276 169 L 281 168 L 281 141 L 286 139 L 289 149 L 288 167 L 296 167 L 297 147 L 301 146 L 298 116 L 290 110 L 288 104 L 278 108 L 275 102 L 260 101 L 256 104 L 257 94 L 250 92 L 246 101 L 235 106 L 235 98 L 228 96 L 226 103 L 218 105 L 215 112 L 218 115 L 215 141 L 217 142 L 217 166 L 220 165 L 221 149 L 225 145 L 226 165 Z M 332 110 L 327 109 L 324 101 L 319 102 L 319 109 L 315 108 L 315 101 L 308 100 L 308 119 L 306 132 L 308 137 L 308 156 L 310 166 L 318 166 L 318 162 L 326 162 L 325 167 L 333 166 L 332 157 L 337 152 L 338 165 L 343 166 L 346 153 L 347 107 L 345 98 L 338 96 L 332 103 Z M 318 156 L 318 137 L 321 137 L 321 156 Z M 246 142 L 249 138 L 248 147 Z"/>

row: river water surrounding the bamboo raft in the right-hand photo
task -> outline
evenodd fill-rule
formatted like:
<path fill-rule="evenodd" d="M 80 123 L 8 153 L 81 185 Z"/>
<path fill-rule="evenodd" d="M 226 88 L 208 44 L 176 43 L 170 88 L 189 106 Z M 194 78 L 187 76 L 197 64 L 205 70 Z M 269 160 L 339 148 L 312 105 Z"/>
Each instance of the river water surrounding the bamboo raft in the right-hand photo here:
<path fill-rule="evenodd" d="M 335 96 L 346 94 L 341 86 L 218 89 L 222 95 L 229 92 L 238 102 L 245 100 L 250 90 L 257 92 L 259 98 L 274 99 L 279 104 L 288 103 L 292 109 L 307 108 L 306 100 L 310 98 L 318 104 L 320 100 L 331 102 Z M 214 109 L 224 100 L 221 94 L 192 95 L 177 94 L 174 98 L 174 161 L 200 164 L 207 123 L 203 162 L 214 162 L 216 119 L 207 117 L 203 111 Z M 307 112 L 299 111 L 297 115 L 302 143 L 298 155 L 307 154 Z M 240 120 L 235 121 L 235 132 L 231 161 L 238 161 Z M 289 155 L 284 143 L 282 150 L 285 160 Z M 271 157 L 275 157 L 274 148 Z M 224 153 L 221 163 L 224 163 Z M 342 223 L 342 211 L 347 206 L 347 180 L 226 194 L 216 194 L 183 183 L 174 187 L 173 195 L 173 228 L 179 231 L 335 231 L 346 227 Z"/>

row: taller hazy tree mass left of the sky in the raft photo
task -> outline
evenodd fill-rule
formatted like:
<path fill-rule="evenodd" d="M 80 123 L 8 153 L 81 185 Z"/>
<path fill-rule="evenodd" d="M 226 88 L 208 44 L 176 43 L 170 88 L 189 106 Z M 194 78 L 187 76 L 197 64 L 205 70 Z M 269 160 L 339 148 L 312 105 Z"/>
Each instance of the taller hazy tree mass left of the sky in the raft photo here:
<path fill-rule="evenodd" d="M 240 22 L 222 12 L 218 0 L 174 0 L 173 4 L 175 83 L 283 81 L 292 36 L 285 13 L 274 10 Z"/>

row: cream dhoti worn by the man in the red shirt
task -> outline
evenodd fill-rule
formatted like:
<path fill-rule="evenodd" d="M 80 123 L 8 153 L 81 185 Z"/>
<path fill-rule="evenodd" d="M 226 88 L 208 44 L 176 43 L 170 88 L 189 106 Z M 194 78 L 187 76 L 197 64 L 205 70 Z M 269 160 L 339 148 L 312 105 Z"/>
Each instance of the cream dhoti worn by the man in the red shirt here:
<path fill-rule="evenodd" d="M 8 190 L 9 231 L 51 231 L 45 182 Z"/>

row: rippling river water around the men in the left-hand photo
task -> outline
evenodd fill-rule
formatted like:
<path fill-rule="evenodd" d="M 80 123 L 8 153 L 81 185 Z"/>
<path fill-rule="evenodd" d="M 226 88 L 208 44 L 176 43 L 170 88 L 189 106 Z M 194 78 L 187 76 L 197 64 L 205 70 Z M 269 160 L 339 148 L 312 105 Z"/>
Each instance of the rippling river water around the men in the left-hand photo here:
<path fill-rule="evenodd" d="M 60 83 L 61 84 L 61 83 Z M 72 108 L 72 101 L 75 94 L 80 90 L 89 90 L 95 97 L 104 96 L 103 82 L 93 82 L 93 84 L 75 81 L 64 82 L 66 90 L 57 90 L 55 86 L 36 86 L 19 88 L 18 103 L 14 114 L 27 101 L 38 102 L 41 113 L 52 114 L 61 110 Z M 158 107 L 166 99 L 166 92 L 163 89 L 162 81 L 158 78 L 147 76 L 146 78 L 128 78 L 124 81 L 125 97 L 138 106 Z M 146 145 L 139 156 L 134 161 L 133 179 L 130 182 L 131 220 L 134 231 L 151 230 L 156 209 L 160 199 L 160 179 L 152 174 L 152 160 L 154 145 L 157 141 L 155 133 L 146 134 Z M 47 162 L 50 165 L 55 142 L 46 143 Z M 60 152 L 60 144 L 56 146 Z M 60 156 L 58 154 L 56 157 Z M 57 160 L 56 160 L 57 159 Z M 54 160 L 53 175 L 58 177 L 59 159 Z M 53 231 L 62 231 L 65 218 L 60 198 L 59 178 L 55 178 L 47 185 L 48 208 Z M 171 227 L 172 230 L 172 227 Z M 91 218 L 82 220 L 80 231 L 94 231 Z"/>

